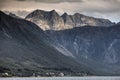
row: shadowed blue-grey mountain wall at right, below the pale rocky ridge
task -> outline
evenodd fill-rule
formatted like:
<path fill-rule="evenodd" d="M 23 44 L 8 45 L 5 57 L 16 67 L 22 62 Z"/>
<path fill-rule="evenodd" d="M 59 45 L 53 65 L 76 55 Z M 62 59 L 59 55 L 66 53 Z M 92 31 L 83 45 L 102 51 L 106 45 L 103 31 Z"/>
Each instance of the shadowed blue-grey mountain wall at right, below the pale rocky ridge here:
<path fill-rule="evenodd" d="M 96 74 L 120 75 L 120 24 L 48 30 L 46 34 L 68 50 L 77 62 L 89 66 Z"/>

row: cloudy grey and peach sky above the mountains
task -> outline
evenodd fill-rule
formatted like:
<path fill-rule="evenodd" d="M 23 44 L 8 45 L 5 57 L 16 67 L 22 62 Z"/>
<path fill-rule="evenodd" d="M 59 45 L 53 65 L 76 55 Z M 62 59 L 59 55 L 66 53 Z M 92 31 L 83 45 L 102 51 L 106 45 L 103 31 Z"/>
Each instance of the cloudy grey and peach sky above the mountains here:
<path fill-rule="evenodd" d="M 60 15 L 81 13 L 120 22 L 120 0 L 0 0 L 0 10 L 22 17 L 36 9 L 54 9 Z"/>

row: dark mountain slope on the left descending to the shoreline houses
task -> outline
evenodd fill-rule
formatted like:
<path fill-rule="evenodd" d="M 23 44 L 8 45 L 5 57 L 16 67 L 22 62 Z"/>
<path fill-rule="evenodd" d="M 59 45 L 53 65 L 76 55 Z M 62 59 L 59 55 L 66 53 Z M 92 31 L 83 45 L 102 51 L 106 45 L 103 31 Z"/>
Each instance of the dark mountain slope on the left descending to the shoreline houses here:
<path fill-rule="evenodd" d="M 57 51 L 48 39 L 34 23 L 0 11 L 0 74 L 31 76 L 65 72 L 75 75 L 89 70 Z"/>

